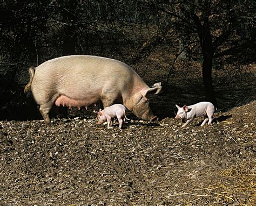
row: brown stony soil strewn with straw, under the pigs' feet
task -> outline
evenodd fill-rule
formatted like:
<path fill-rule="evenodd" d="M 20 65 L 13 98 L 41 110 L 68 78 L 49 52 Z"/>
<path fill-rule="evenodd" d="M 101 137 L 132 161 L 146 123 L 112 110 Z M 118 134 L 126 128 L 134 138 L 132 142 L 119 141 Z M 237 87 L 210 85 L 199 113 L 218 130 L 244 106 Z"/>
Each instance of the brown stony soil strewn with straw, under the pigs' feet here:
<path fill-rule="evenodd" d="M 253 204 L 255 105 L 195 119 L 1 121 L 1 204 Z"/>

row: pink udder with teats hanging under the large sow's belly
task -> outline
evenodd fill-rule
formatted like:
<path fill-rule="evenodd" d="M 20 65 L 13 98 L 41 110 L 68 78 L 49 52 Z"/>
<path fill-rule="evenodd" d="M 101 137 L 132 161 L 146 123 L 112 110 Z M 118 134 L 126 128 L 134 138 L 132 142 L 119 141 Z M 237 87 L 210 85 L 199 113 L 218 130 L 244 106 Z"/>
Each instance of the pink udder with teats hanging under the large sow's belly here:
<path fill-rule="evenodd" d="M 55 101 L 56 106 L 68 106 L 69 108 L 72 107 L 77 107 L 80 109 L 82 106 L 84 106 L 87 109 L 87 106 L 90 104 L 95 103 L 96 104 L 97 100 L 95 99 L 86 99 L 86 100 L 73 100 L 72 98 L 69 98 L 65 95 L 60 95 L 57 100 Z"/>

